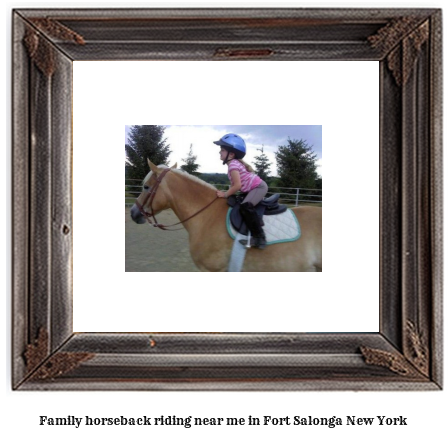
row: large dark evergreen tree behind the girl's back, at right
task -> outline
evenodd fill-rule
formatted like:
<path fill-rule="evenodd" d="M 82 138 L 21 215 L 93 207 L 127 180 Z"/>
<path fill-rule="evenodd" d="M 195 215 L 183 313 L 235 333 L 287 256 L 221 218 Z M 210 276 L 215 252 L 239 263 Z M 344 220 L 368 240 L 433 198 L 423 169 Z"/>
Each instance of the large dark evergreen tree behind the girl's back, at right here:
<path fill-rule="evenodd" d="M 278 175 L 283 187 L 316 187 L 317 155 L 305 140 L 291 140 L 275 153 Z"/>

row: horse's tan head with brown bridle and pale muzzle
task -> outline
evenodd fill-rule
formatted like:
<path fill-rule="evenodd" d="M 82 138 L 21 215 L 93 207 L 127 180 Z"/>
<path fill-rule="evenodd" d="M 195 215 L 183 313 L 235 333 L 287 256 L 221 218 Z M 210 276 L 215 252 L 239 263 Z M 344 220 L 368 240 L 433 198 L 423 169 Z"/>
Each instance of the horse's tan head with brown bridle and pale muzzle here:
<path fill-rule="evenodd" d="M 143 180 L 143 190 L 131 208 L 131 218 L 137 224 L 144 224 L 147 218 L 168 208 L 168 199 L 162 187 L 166 166 L 156 166 L 148 159 L 150 172 Z M 175 164 L 171 169 L 175 169 Z"/>

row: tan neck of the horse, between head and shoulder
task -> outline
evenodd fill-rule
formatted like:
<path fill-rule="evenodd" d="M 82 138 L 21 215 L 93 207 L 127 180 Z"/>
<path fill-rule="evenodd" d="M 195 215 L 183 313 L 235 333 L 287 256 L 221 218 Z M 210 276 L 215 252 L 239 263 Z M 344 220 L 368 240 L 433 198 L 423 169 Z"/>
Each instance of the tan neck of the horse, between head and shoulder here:
<path fill-rule="evenodd" d="M 171 208 L 181 221 L 187 220 L 216 198 L 216 190 L 213 187 L 184 175 L 176 173 L 170 183 Z M 207 210 L 202 211 L 198 217 L 202 216 L 201 219 L 207 217 L 209 213 Z M 196 217 L 184 223 L 187 230 L 197 224 L 198 221 L 194 221 L 194 219 Z"/>

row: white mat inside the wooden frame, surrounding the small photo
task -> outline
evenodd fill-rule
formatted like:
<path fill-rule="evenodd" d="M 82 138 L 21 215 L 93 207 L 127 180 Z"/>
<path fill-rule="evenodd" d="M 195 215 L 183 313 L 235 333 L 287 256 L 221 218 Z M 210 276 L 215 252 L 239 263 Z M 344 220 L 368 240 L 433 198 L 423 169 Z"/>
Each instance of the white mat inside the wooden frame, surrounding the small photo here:
<path fill-rule="evenodd" d="M 75 62 L 75 331 L 378 331 L 378 76 L 378 62 Z M 323 273 L 124 272 L 131 123 L 322 125 Z"/>

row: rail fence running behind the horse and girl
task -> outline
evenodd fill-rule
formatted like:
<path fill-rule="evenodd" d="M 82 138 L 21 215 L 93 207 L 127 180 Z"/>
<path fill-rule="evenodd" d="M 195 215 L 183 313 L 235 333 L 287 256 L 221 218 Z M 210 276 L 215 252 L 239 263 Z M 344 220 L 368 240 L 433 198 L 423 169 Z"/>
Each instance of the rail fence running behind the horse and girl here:
<path fill-rule="evenodd" d="M 218 190 L 227 190 L 228 184 L 211 184 Z M 141 193 L 142 185 L 140 180 L 125 180 L 125 205 L 134 204 L 135 198 Z M 278 193 L 282 204 L 294 205 L 299 204 L 320 204 L 322 205 L 321 189 L 305 189 L 300 187 L 269 187 L 267 196 Z"/>

